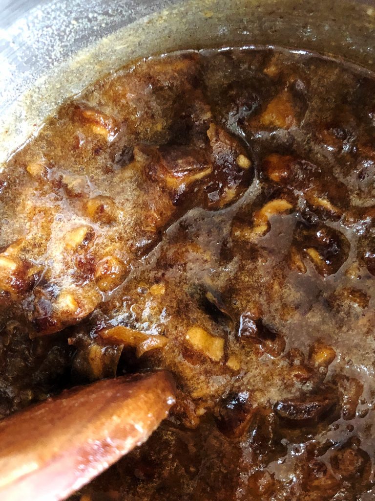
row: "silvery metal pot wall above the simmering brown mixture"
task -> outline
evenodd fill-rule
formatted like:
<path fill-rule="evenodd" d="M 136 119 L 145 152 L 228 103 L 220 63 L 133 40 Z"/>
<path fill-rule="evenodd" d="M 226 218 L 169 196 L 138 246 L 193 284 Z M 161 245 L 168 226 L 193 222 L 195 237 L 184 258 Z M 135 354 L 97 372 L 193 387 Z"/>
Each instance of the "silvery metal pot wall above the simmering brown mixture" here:
<path fill-rule="evenodd" d="M 25 0 L 0 13 L 0 161 L 62 99 L 139 56 L 280 45 L 375 68 L 373 0 Z"/>

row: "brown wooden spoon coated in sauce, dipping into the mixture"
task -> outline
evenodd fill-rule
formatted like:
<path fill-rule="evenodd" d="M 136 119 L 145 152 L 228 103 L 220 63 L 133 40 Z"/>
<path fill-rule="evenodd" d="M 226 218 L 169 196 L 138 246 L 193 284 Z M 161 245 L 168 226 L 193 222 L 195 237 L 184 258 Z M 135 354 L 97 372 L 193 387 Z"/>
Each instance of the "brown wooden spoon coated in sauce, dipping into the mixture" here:
<path fill-rule="evenodd" d="M 0 421 L 1 501 L 59 501 L 144 442 L 174 403 L 165 371 L 64 391 Z"/>

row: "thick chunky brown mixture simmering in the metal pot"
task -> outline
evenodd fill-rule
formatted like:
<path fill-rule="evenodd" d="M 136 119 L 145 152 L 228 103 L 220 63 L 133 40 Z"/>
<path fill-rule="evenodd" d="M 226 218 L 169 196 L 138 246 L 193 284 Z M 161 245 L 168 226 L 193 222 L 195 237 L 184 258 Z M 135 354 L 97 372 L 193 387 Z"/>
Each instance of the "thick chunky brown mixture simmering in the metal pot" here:
<path fill-rule="evenodd" d="M 146 368 L 178 386 L 74 500 L 375 498 L 374 137 L 372 75 L 209 50 L 109 75 L 9 159 L 1 414 Z"/>

